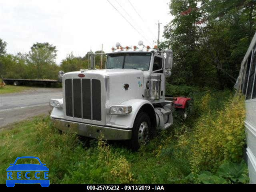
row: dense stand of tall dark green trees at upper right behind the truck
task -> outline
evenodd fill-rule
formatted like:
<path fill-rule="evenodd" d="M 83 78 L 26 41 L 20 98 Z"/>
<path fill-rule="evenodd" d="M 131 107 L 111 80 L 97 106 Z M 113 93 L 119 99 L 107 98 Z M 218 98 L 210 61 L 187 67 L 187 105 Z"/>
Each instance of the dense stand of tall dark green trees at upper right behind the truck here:
<path fill-rule="evenodd" d="M 161 44 L 174 51 L 170 82 L 232 88 L 256 30 L 256 2 L 172 0 L 170 13 Z"/>

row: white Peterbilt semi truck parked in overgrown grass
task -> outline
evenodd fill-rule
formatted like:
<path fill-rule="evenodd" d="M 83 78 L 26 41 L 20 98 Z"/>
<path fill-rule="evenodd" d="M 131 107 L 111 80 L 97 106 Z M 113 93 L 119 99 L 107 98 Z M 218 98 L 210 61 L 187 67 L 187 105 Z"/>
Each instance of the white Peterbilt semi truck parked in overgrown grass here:
<path fill-rule="evenodd" d="M 147 143 L 156 130 L 173 124 L 172 112 L 190 98 L 166 100 L 165 78 L 171 75 L 172 50 L 156 46 L 122 47 L 106 54 L 105 69 L 91 67 L 60 72 L 63 98 L 51 99 L 51 119 L 62 130 L 105 140 L 128 140 L 132 150 Z"/>

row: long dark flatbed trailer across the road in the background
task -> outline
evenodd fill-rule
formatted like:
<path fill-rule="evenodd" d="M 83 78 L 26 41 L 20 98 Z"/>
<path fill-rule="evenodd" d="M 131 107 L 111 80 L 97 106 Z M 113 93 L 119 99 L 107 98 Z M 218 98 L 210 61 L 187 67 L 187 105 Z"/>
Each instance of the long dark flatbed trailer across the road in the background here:
<path fill-rule="evenodd" d="M 58 80 L 51 80 L 51 79 L 3 79 L 5 84 L 9 85 L 22 85 L 27 83 L 34 83 L 34 84 L 43 84 L 44 87 L 51 86 L 54 83 L 58 83 Z"/>

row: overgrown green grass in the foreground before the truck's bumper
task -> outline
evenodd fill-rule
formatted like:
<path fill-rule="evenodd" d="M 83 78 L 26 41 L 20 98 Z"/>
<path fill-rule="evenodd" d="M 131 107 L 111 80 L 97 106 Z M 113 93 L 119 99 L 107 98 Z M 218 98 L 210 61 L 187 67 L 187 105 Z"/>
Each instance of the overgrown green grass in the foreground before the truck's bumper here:
<path fill-rule="evenodd" d="M 20 122 L 0 132 L 0 183 L 18 156 L 39 157 L 50 169 L 51 183 L 169 183 L 177 169 L 184 176 L 189 168 L 185 159 L 158 156 L 166 132 L 159 134 L 146 148 L 131 152 L 123 142 L 99 147 L 97 140 L 59 134 L 49 117 Z"/>

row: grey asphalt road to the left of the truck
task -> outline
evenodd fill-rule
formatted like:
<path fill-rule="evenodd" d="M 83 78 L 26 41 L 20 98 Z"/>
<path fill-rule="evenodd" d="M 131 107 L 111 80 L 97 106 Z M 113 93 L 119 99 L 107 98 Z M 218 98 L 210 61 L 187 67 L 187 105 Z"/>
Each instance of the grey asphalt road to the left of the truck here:
<path fill-rule="evenodd" d="M 50 98 L 62 98 L 62 89 L 36 88 L 20 93 L 0 94 L 0 128 L 40 114 L 49 114 Z"/>

